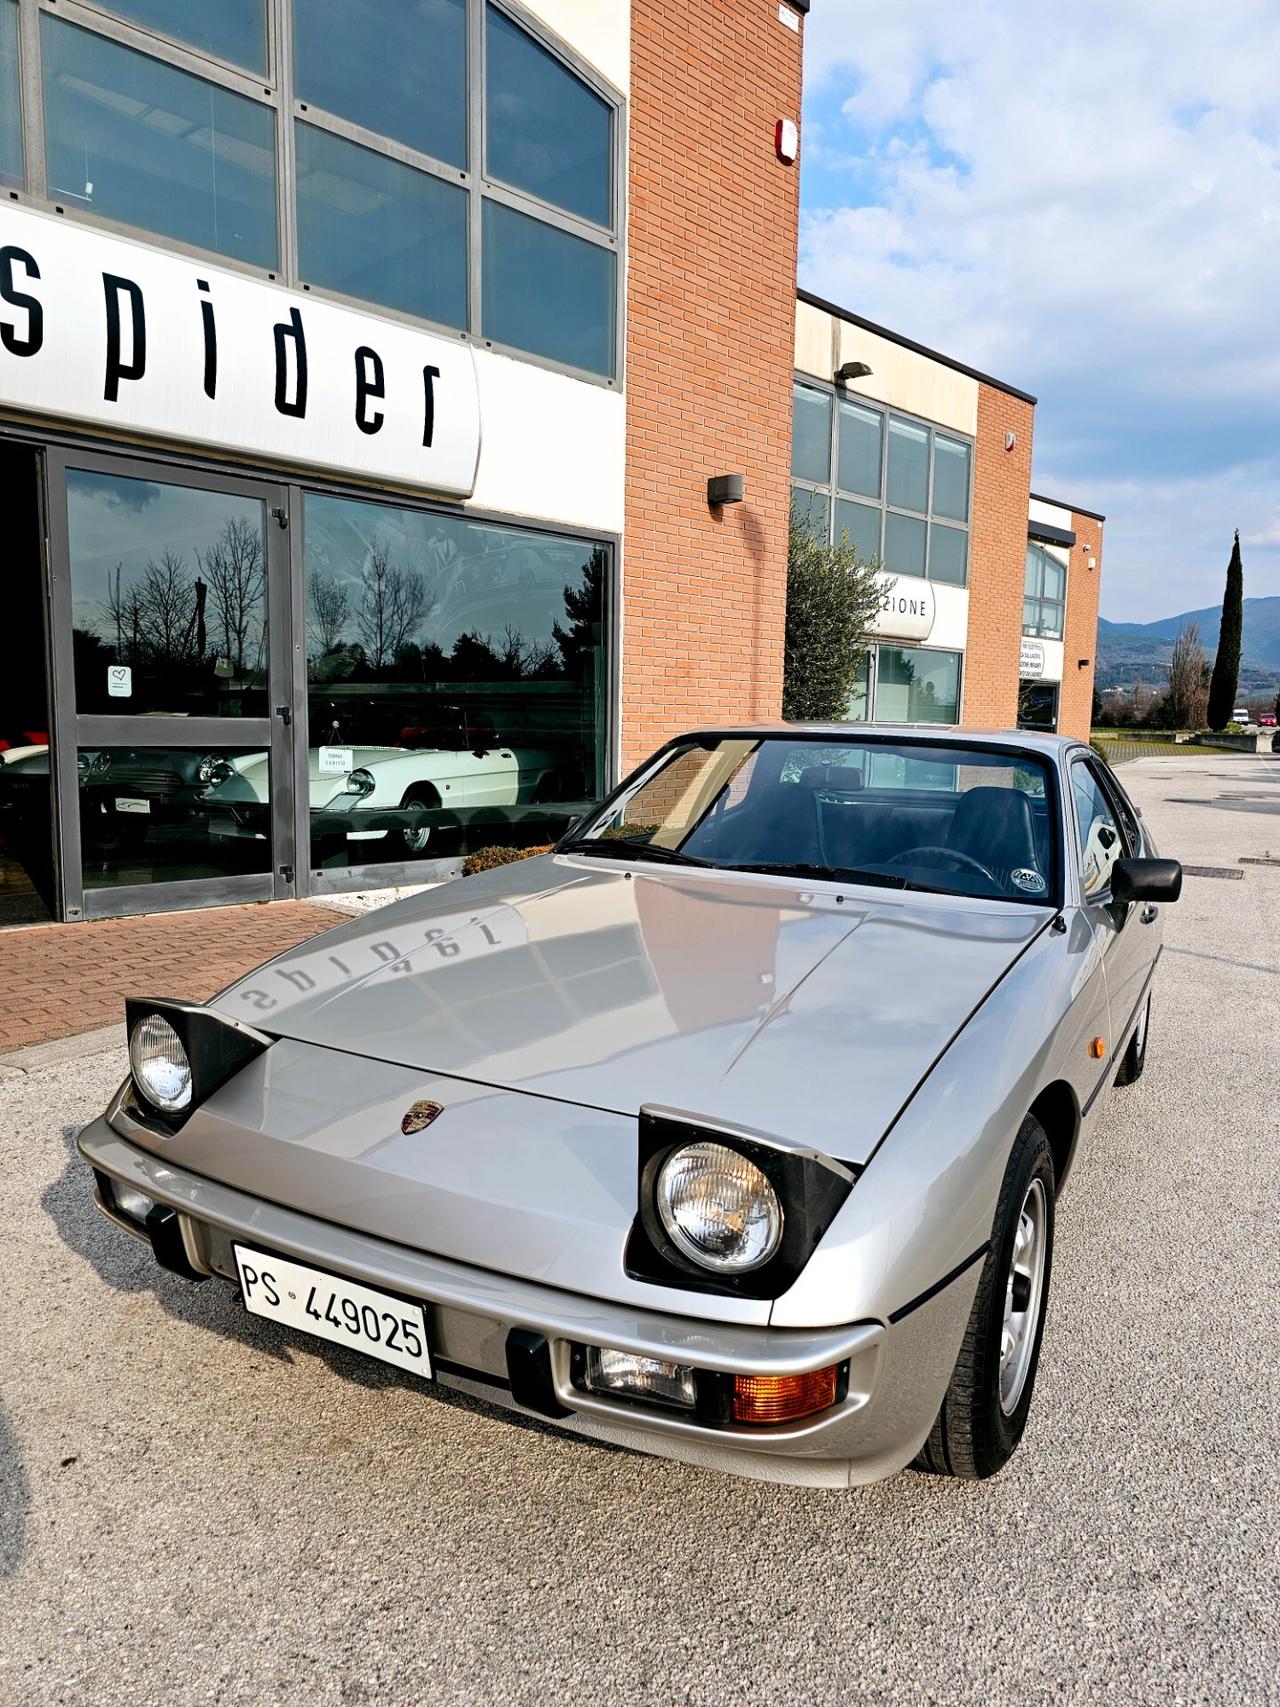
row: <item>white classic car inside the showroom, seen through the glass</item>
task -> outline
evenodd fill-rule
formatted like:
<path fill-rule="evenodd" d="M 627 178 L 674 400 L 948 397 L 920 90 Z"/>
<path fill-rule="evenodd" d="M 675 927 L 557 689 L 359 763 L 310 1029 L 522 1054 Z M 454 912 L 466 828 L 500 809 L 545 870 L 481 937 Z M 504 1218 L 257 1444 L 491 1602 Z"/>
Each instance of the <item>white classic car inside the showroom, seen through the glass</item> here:
<path fill-rule="evenodd" d="M 500 741 L 486 717 L 444 707 L 430 725 L 401 731 L 403 746 L 333 741 L 307 753 L 312 835 L 348 842 L 394 836 L 404 854 L 425 854 L 442 813 L 555 801 L 563 795 L 551 753 Z M 266 753 L 224 761 L 205 790 L 210 836 L 265 836 Z M 444 819 L 449 823 L 451 819 Z"/>

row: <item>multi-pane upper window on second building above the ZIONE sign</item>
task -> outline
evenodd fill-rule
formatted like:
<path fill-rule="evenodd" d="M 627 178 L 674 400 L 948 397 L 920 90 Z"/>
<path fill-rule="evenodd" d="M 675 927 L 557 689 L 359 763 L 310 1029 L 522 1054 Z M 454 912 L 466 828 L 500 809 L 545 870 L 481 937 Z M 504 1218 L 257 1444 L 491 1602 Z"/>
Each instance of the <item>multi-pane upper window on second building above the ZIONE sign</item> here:
<path fill-rule="evenodd" d="M 973 442 L 843 391 L 797 382 L 792 481 L 814 527 L 894 575 L 963 587 Z"/>

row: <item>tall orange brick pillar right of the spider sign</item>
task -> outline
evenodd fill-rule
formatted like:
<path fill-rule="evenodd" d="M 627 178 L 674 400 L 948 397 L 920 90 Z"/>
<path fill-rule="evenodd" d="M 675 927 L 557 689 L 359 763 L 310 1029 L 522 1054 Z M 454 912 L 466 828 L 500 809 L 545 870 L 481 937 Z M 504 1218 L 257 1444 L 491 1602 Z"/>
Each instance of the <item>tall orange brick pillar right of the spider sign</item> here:
<path fill-rule="evenodd" d="M 623 765 L 775 717 L 787 599 L 800 36 L 778 0 L 633 0 Z M 713 512 L 708 475 L 746 476 Z"/>

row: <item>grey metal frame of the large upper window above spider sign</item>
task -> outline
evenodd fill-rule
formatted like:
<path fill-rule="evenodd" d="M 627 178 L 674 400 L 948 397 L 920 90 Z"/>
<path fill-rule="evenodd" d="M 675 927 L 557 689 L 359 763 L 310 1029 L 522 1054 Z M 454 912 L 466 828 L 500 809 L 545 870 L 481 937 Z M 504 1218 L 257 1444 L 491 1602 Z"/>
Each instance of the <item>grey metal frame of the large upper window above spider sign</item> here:
<path fill-rule="evenodd" d="M 357 309 L 364 314 L 377 314 L 382 319 L 394 319 L 408 326 L 433 331 L 444 338 L 459 338 L 481 350 L 497 350 L 512 355 L 534 367 L 544 367 L 556 374 L 570 374 L 587 384 L 620 391 L 626 370 L 626 135 L 628 104 L 625 96 L 613 87 L 594 67 L 577 55 L 567 43 L 560 41 L 539 19 L 532 17 L 517 0 L 464 0 L 466 3 L 466 53 L 468 53 L 468 89 L 466 89 L 466 166 L 451 166 L 445 160 L 367 130 L 352 119 L 340 118 L 324 108 L 300 101 L 294 87 L 294 0 L 263 0 L 266 17 L 266 68 L 263 75 L 246 67 L 232 65 L 213 55 L 179 41 L 176 36 L 160 34 L 143 24 L 109 9 L 109 0 L 17 0 L 19 3 L 19 92 L 20 92 L 20 137 L 24 184 L 12 189 L 12 198 L 19 203 L 63 213 L 72 220 L 84 222 L 99 230 L 131 237 L 150 248 L 167 249 L 174 254 L 186 254 L 193 259 L 208 261 L 213 266 L 225 266 L 232 271 L 247 273 L 251 278 L 265 278 L 271 283 L 285 283 L 305 295 L 316 295 L 341 307 Z M 567 70 L 580 79 L 611 109 L 611 162 L 609 162 L 609 201 L 611 225 L 608 229 L 584 220 L 563 208 L 556 208 L 539 196 L 514 189 L 497 179 L 488 179 L 483 169 L 485 147 L 485 19 L 486 7 L 493 5 L 503 12 L 512 24 L 531 36 L 541 48 L 551 53 Z M 268 108 L 275 114 L 275 203 L 276 203 L 276 265 L 273 268 L 256 266 L 222 254 L 215 249 L 201 249 L 167 237 L 162 232 L 148 230 L 145 225 L 133 225 L 121 220 L 104 218 L 99 213 L 80 208 L 68 208 L 49 198 L 44 155 L 44 90 L 43 90 L 43 56 L 41 56 L 41 17 L 63 19 L 79 29 L 102 36 L 123 48 L 131 48 L 150 60 L 188 72 L 205 82 L 232 94 L 246 96 L 258 106 Z M 338 290 L 329 290 L 302 277 L 299 270 L 299 208 L 297 208 L 297 147 L 295 125 L 312 125 L 340 140 L 355 143 L 381 154 L 413 171 L 439 178 L 444 183 L 466 189 L 468 193 L 468 229 L 466 229 L 466 270 L 468 270 L 468 324 L 464 328 L 445 326 L 423 316 L 408 314 L 403 309 L 372 302 L 367 297 L 350 297 Z M 573 237 L 606 249 L 614 256 L 613 277 L 613 369 L 609 374 L 573 367 L 572 364 L 521 350 L 515 345 L 486 338 L 481 319 L 481 266 L 483 266 L 483 201 L 502 201 L 543 225 L 556 227 Z"/>

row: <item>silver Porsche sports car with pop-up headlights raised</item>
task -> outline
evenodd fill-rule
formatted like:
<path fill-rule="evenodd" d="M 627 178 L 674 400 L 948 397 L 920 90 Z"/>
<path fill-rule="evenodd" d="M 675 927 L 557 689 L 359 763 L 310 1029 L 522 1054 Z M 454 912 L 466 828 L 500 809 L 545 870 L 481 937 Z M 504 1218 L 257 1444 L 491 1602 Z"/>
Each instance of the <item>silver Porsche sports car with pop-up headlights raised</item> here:
<path fill-rule="evenodd" d="M 275 1331 L 739 1475 L 986 1477 L 1179 888 L 1073 741 L 696 732 L 550 854 L 130 1000 L 80 1149 Z"/>

